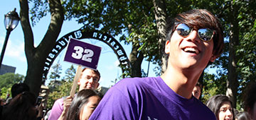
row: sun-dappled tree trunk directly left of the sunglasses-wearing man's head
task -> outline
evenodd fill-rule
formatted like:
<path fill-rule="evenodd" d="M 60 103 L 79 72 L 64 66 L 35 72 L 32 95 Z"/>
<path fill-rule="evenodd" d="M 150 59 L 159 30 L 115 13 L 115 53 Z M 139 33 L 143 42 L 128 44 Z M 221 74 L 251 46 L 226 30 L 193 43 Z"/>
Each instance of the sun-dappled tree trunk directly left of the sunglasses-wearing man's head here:
<path fill-rule="evenodd" d="M 159 52 L 161 53 L 161 73 L 164 73 L 167 68 L 167 59 L 164 52 L 166 38 L 166 3 L 164 0 L 153 0 L 154 16 L 159 35 Z"/>

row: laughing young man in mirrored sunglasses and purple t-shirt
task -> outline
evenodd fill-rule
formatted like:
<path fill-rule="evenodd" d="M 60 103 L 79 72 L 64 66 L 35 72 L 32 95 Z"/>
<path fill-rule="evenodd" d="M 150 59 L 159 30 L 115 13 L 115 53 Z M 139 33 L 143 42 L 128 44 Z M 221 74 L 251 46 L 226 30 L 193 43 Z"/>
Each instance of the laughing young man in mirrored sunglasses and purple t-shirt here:
<path fill-rule="evenodd" d="M 216 119 L 191 92 L 203 69 L 222 52 L 218 18 L 207 10 L 191 10 L 178 14 L 167 30 L 164 50 L 169 59 L 164 74 L 119 81 L 105 94 L 91 120 Z"/>

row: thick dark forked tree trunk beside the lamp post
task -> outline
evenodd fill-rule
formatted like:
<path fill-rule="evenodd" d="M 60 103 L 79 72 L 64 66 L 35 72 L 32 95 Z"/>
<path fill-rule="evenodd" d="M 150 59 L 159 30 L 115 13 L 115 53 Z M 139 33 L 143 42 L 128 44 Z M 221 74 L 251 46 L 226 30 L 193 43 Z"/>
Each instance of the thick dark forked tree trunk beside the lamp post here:
<path fill-rule="evenodd" d="M 24 83 L 28 84 L 35 95 L 41 88 L 42 76 L 43 76 L 43 65 L 45 64 L 46 57 L 53 48 L 55 41 L 63 24 L 64 15 L 63 8 L 59 0 L 49 0 L 50 6 L 50 25 L 43 40 L 34 47 L 33 42 L 33 31 L 29 23 L 28 17 L 28 1 L 19 0 L 20 2 L 20 16 L 21 16 L 21 27 L 23 29 L 24 41 L 25 41 L 25 54 L 28 62 L 28 70 Z"/>

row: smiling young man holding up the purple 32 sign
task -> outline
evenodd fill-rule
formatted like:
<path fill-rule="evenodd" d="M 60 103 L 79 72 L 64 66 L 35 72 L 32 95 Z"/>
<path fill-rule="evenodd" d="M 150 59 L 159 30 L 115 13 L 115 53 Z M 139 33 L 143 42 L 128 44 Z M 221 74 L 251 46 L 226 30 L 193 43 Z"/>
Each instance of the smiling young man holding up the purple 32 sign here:
<path fill-rule="evenodd" d="M 100 72 L 92 70 L 90 68 L 83 68 L 81 76 L 78 80 L 79 91 L 83 89 L 95 90 L 100 85 L 98 83 L 100 80 Z M 73 98 L 62 97 L 56 100 L 50 111 L 50 116 L 48 120 L 65 119 L 65 114 L 68 112 L 68 108 L 72 102 Z"/>

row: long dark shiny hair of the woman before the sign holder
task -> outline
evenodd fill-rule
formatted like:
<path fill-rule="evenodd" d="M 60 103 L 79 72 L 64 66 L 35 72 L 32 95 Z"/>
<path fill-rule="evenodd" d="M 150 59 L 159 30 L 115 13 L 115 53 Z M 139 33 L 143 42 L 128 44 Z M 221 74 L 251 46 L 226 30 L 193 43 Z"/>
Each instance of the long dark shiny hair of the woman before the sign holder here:
<path fill-rule="evenodd" d="M 69 120 L 79 120 L 80 112 L 85 104 L 87 104 L 88 100 L 92 96 L 97 96 L 102 99 L 103 95 L 100 92 L 90 89 L 80 90 L 74 97 L 74 100 L 70 104 L 70 108 L 68 109 L 67 119 Z"/>

